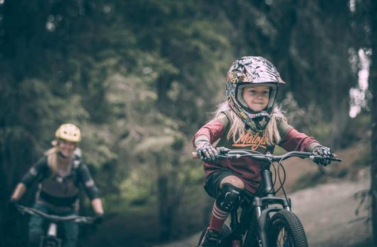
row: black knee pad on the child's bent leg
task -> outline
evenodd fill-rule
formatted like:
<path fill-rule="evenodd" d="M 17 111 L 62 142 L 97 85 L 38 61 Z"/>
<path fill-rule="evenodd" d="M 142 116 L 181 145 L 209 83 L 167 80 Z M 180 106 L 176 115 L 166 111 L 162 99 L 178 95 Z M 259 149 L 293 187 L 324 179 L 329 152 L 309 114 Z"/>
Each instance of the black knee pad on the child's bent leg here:
<path fill-rule="evenodd" d="M 231 212 L 238 209 L 243 189 L 235 187 L 230 183 L 223 184 L 219 196 L 216 198 L 216 206 L 224 212 Z"/>

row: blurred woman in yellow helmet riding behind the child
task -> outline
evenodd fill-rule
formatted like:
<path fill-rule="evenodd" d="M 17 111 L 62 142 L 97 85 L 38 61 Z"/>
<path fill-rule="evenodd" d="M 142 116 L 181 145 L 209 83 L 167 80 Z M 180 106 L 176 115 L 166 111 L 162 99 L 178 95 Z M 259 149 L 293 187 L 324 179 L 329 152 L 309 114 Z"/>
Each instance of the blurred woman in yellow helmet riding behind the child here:
<path fill-rule="evenodd" d="M 97 219 L 104 214 L 98 189 L 95 187 L 88 167 L 82 162 L 77 144 L 81 141 L 81 132 L 73 124 L 62 124 L 56 130 L 53 148 L 33 165 L 23 176 L 11 196 L 11 202 L 17 202 L 27 188 L 38 182 L 34 209 L 42 213 L 58 216 L 77 215 L 79 210 L 80 184 L 90 198 Z M 32 215 L 29 221 L 29 246 L 38 246 L 44 233 L 43 218 Z M 73 221 L 64 222 L 64 247 L 75 247 L 78 226 Z"/>

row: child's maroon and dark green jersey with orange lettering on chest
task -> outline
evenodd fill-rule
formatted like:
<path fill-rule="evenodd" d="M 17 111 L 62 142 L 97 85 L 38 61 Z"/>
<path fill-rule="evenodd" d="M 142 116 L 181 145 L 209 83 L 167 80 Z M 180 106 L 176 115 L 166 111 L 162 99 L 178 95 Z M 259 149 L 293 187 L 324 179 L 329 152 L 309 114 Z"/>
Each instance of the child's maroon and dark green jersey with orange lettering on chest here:
<path fill-rule="evenodd" d="M 200 128 L 193 138 L 194 146 L 197 141 L 209 141 L 211 144 L 218 141 L 216 144 L 217 147 L 226 147 L 232 150 L 253 150 L 263 154 L 266 154 L 267 152 L 271 152 L 271 154 L 273 153 L 275 146 L 267 144 L 267 141 L 263 137 L 263 132 L 253 132 L 252 130 L 249 130 L 245 132 L 241 139 L 236 143 L 234 143 L 232 138 L 228 140 L 226 136 L 230 128 L 230 120 L 227 115 L 228 114 L 223 113 L 217 119 L 209 121 L 206 125 Z M 281 137 L 281 141 L 278 145 L 288 152 L 312 152 L 313 148 L 319 145 L 315 139 L 308 137 L 304 133 L 298 132 L 281 119 L 278 119 L 276 124 Z M 247 191 L 255 193 L 256 189 L 258 189 L 260 183 L 258 161 L 254 161 L 248 157 L 241 157 L 236 160 L 218 159 L 215 163 L 204 163 L 206 178 L 208 178 L 213 172 L 217 172 L 221 169 L 232 170 L 236 176 L 243 180 Z"/>

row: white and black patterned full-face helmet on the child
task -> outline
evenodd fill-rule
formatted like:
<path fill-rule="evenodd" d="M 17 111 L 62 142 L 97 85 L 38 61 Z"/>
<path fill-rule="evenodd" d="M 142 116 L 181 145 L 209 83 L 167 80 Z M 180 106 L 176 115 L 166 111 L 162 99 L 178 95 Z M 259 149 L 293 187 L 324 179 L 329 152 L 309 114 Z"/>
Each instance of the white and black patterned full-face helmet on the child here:
<path fill-rule="evenodd" d="M 280 83 L 285 82 L 269 60 L 260 56 L 244 56 L 230 66 L 226 80 L 226 97 L 230 107 L 247 126 L 254 131 L 263 132 L 271 119 Z M 264 110 L 254 112 L 243 100 L 243 89 L 251 85 L 269 86 L 269 102 Z"/>

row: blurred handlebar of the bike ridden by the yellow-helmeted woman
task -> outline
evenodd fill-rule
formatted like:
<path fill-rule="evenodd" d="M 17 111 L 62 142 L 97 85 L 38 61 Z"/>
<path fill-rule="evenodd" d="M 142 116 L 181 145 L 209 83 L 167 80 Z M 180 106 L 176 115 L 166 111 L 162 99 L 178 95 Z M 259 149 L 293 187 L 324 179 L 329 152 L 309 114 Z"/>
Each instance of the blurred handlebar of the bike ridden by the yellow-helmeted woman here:
<path fill-rule="evenodd" d="M 94 217 L 86 217 L 86 216 L 79 216 L 79 215 L 69 215 L 69 216 L 51 215 L 51 214 L 39 211 L 38 209 L 21 206 L 19 204 L 16 205 L 16 208 L 22 214 L 27 213 L 29 215 L 39 215 L 41 217 L 44 217 L 47 220 L 52 220 L 53 222 L 73 221 L 77 224 L 93 224 L 93 222 L 95 222 Z"/>

